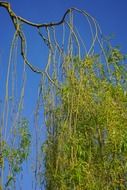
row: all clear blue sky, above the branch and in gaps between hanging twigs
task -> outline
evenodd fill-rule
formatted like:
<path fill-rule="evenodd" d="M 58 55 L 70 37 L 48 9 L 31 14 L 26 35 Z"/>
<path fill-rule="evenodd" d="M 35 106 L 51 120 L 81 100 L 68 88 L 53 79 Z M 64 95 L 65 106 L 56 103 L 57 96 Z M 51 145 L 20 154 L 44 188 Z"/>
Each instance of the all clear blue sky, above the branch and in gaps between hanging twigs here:
<path fill-rule="evenodd" d="M 10 3 L 17 15 L 38 23 L 58 21 L 70 7 L 86 10 L 98 20 L 105 35 L 115 34 L 114 43 L 120 45 L 125 53 L 127 52 L 127 0 L 10 0 Z M 33 64 L 38 61 L 37 65 L 40 66 L 40 60 L 45 56 L 44 47 L 35 38 L 35 34 L 32 33 L 30 28 L 28 28 L 28 31 L 29 34 L 27 35 L 31 42 L 30 45 L 28 44 L 29 57 Z M 3 97 L 5 90 L 3 81 L 5 80 L 10 40 L 13 32 L 8 14 L 0 8 L 0 98 Z M 32 33 L 32 37 L 30 33 Z M 37 46 L 36 42 L 38 43 Z M 43 51 L 40 50 L 41 48 Z M 25 98 L 27 106 L 25 106 L 24 113 L 32 119 L 40 77 L 31 73 L 28 69 L 27 78 Z M 29 187 L 27 179 L 24 180 L 24 184 Z M 28 188 L 23 188 L 23 190 L 26 189 Z"/>

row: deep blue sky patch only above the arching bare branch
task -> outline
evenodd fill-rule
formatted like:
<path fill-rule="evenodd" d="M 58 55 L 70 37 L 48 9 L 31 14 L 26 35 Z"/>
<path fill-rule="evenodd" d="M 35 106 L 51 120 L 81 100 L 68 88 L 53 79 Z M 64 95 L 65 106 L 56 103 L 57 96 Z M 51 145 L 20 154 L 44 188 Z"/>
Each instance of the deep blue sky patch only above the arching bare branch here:
<path fill-rule="evenodd" d="M 114 33 L 118 43 L 126 49 L 126 0 L 10 0 L 10 3 L 18 15 L 35 22 L 58 20 L 70 7 L 87 10 L 98 20 L 103 32 Z"/>

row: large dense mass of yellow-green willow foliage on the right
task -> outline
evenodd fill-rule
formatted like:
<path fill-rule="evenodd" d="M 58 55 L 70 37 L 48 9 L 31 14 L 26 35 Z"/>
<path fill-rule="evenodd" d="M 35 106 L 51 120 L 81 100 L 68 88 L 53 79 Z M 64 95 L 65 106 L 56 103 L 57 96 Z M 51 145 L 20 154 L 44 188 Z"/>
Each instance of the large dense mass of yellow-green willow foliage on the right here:
<path fill-rule="evenodd" d="M 57 101 L 45 96 L 47 190 L 127 189 L 127 95 L 124 56 L 109 56 L 111 80 L 99 56 L 67 57 Z M 117 63 L 117 66 L 114 64 Z"/>

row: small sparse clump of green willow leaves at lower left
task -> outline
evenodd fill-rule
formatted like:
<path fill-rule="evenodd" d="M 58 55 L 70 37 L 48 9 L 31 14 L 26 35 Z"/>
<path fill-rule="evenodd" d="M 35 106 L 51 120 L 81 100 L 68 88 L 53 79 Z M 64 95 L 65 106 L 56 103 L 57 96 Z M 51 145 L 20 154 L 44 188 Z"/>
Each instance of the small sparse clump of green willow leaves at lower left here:
<path fill-rule="evenodd" d="M 16 137 L 19 139 L 17 147 L 11 147 L 5 141 L 1 142 L 2 153 L 0 157 L 0 166 L 4 167 L 4 160 L 8 162 L 10 173 L 8 175 L 6 187 L 14 181 L 16 174 L 22 170 L 22 164 L 27 160 L 31 144 L 31 135 L 29 133 L 28 121 L 22 119 L 19 126 L 16 127 Z"/>

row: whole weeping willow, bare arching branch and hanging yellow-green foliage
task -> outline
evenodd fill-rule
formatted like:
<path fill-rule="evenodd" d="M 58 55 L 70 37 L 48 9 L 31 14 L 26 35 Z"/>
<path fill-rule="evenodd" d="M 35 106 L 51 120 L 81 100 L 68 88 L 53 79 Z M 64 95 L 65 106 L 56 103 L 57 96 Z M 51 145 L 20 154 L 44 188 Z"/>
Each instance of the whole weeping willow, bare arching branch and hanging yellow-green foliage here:
<path fill-rule="evenodd" d="M 15 27 L 0 115 L 0 189 L 19 188 L 23 164 L 33 159 L 32 140 L 32 189 L 127 189 L 126 56 L 102 39 L 99 24 L 85 11 L 70 8 L 59 22 L 36 24 L 17 16 L 8 2 L 0 7 Z M 35 28 L 48 47 L 45 68 L 27 58 L 24 25 Z M 23 60 L 18 77 L 17 50 Z M 40 74 L 35 134 L 23 117 L 26 67 Z"/>

